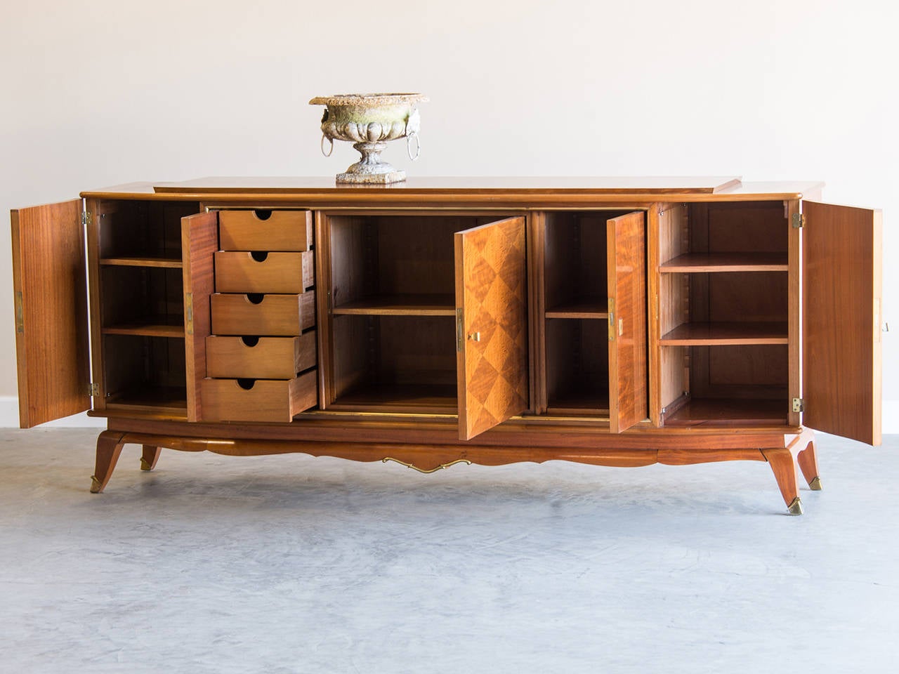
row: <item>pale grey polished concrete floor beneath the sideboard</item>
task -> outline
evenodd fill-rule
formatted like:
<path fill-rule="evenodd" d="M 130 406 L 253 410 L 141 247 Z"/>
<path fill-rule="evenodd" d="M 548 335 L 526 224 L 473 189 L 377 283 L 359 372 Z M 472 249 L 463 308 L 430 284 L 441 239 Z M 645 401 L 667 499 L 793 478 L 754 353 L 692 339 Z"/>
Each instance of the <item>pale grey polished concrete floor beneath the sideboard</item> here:
<path fill-rule="evenodd" d="M 3 672 L 887 672 L 899 437 L 763 463 L 403 466 L 0 430 Z"/>

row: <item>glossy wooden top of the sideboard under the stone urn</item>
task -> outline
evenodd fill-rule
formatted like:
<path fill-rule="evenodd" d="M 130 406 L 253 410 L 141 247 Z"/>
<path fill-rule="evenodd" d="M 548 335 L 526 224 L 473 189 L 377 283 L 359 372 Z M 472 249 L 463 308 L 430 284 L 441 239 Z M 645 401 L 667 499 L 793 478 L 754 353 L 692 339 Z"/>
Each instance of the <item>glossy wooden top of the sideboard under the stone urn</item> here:
<path fill-rule="evenodd" d="M 743 182 L 736 176 L 410 177 L 389 185 L 337 184 L 333 177 L 207 177 L 184 182 L 132 182 L 85 191 L 88 198 L 304 200 L 383 202 L 472 200 L 540 205 L 556 200 L 796 199 L 822 182 Z"/>

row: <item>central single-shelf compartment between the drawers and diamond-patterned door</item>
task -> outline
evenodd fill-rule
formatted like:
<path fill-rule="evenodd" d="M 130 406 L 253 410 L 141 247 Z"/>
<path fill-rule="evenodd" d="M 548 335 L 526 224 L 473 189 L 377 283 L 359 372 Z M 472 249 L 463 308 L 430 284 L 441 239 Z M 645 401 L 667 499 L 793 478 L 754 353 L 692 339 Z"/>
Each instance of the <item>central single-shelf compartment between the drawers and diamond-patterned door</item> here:
<path fill-rule="evenodd" d="M 329 215 L 330 409 L 455 412 L 456 232 L 494 216 Z"/>

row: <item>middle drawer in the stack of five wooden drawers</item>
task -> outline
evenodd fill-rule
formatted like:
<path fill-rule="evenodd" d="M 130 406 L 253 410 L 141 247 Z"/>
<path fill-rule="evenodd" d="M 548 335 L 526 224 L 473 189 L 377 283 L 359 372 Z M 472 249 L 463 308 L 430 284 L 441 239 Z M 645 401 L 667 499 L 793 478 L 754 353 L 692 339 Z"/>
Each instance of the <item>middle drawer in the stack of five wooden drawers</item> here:
<path fill-rule="evenodd" d="M 259 300 L 255 302 L 254 300 Z M 316 324 L 316 293 L 209 297 L 213 334 L 299 336 Z"/>

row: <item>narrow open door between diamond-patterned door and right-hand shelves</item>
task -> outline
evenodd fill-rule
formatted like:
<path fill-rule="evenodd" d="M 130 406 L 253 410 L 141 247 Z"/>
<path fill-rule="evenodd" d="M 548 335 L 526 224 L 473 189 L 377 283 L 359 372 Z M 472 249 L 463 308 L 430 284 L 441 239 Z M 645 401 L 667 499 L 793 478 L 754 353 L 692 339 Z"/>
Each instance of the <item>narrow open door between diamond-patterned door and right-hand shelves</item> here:
<path fill-rule="evenodd" d="M 647 416 L 645 213 L 613 217 L 606 226 L 609 425 L 620 433 Z"/>

